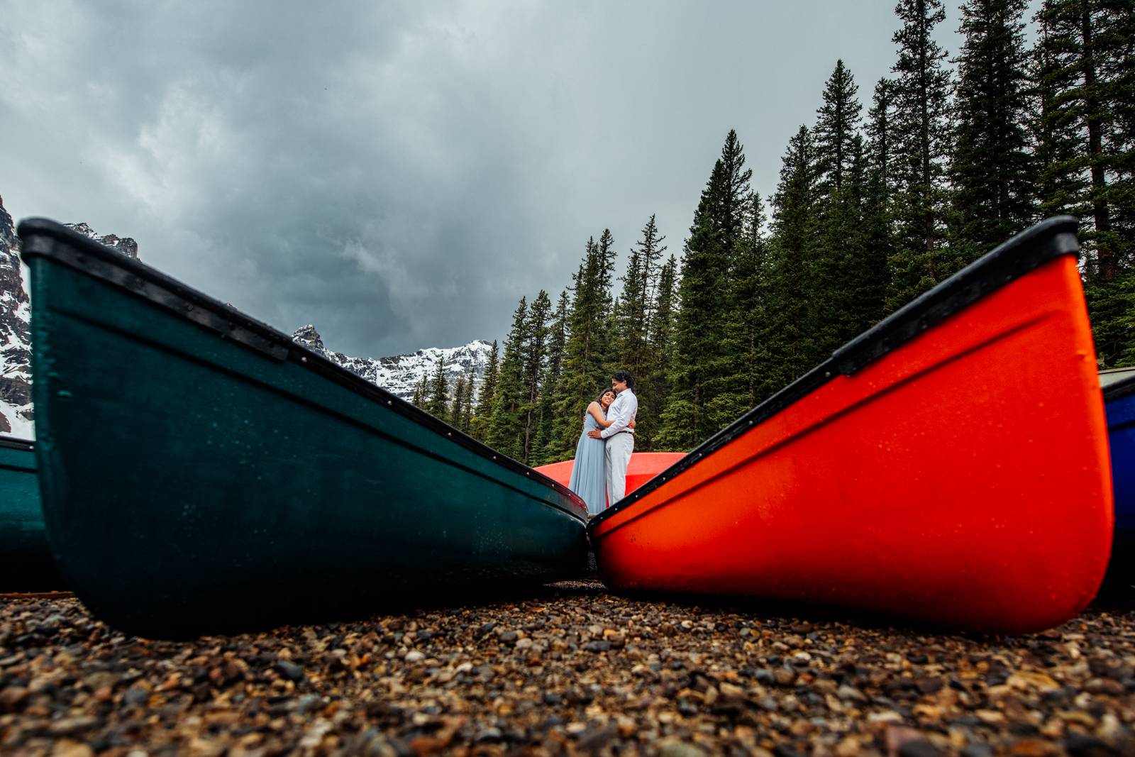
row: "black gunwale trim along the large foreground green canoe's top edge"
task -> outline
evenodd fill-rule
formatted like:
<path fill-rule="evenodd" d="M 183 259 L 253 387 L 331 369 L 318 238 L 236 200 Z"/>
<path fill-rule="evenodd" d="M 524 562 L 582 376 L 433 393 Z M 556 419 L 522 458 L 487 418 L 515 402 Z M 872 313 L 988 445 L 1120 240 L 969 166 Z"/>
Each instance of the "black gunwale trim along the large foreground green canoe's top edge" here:
<path fill-rule="evenodd" d="M 386 405 L 389 410 L 434 431 L 447 441 L 464 447 L 505 470 L 523 474 L 552 488 L 578 503 L 580 510 L 587 510 L 583 501 L 558 481 L 481 444 L 426 411 L 414 407 L 405 399 L 396 397 L 361 376 L 333 363 L 318 352 L 293 342 L 292 337 L 283 331 L 246 316 L 232 305 L 215 300 L 155 268 L 128 258 L 117 250 L 111 250 L 47 218 L 24 219 L 16 230 L 22 241 L 22 258 L 47 258 L 126 289 L 134 296 L 148 300 L 264 355 L 278 361 L 286 360 L 297 363 L 318 376 Z M 91 258 L 87 259 L 85 255 Z M 545 502 L 544 504 L 586 523 L 586 515 L 573 512 L 555 502 Z"/>

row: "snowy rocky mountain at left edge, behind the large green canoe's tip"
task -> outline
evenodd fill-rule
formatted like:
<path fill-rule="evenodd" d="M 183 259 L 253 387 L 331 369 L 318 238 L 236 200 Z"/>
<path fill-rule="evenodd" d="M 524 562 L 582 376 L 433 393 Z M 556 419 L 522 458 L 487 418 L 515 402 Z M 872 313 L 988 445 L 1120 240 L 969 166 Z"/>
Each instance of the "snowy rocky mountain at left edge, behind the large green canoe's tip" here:
<path fill-rule="evenodd" d="M 114 234 L 99 236 L 86 224 L 67 224 L 79 234 L 138 256 L 137 242 Z M 0 197 L 0 434 L 23 439 L 35 436 L 32 410 L 31 301 L 19 268 L 19 239 Z"/>

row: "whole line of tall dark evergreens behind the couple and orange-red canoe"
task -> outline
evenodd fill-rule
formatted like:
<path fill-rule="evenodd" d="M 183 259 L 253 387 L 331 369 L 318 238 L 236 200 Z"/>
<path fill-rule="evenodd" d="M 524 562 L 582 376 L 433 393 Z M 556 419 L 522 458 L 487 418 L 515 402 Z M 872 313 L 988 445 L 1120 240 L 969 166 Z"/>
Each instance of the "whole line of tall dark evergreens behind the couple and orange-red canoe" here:
<path fill-rule="evenodd" d="M 771 197 L 730 131 L 681 258 L 651 216 L 615 294 L 609 229 L 553 304 L 521 297 L 478 396 L 438 365 L 414 402 L 516 460 L 570 459 L 587 403 L 636 377 L 637 449 L 689 449 L 1028 225 L 1082 219 L 1100 367 L 1135 364 L 1135 5 L 900 0 L 891 75 L 860 99 L 836 61 Z"/>

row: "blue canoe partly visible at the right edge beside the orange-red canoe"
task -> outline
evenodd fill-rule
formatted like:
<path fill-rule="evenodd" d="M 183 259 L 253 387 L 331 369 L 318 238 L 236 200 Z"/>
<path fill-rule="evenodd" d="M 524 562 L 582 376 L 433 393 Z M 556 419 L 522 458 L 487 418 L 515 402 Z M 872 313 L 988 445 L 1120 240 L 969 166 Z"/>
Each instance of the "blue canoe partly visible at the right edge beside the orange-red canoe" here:
<path fill-rule="evenodd" d="M 1135 584 L 1135 368 L 1100 371 L 1111 447 L 1116 536 L 1109 583 Z"/>

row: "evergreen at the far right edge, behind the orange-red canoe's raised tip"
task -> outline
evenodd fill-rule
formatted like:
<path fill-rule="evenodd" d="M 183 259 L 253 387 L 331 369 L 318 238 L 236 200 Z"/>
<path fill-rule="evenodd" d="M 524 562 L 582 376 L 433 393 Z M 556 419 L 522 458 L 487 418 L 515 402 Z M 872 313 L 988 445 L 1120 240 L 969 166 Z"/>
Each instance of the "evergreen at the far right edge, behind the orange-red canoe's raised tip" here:
<path fill-rule="evenodd" d="M 1133 360 L 1135 329 L 1135 12 L 1129 2 L 1045 0 L 1040 131 L 1045 210 L 1084 219 L 1084 272 L 1102 365 Z"/>

